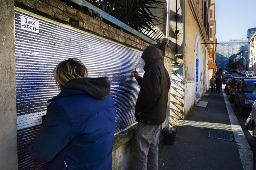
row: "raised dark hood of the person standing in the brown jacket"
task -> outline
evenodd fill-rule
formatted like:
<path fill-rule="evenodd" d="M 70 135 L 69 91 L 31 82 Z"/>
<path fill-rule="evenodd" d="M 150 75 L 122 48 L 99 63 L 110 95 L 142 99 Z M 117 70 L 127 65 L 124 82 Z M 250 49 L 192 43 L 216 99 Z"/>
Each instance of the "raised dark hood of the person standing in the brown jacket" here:
<path fill-rule="evenodd" d="M 150 45 L 148 46 L 141 55 L 141 58 L 146 64 L 150 64 L 155 59 L 161 60 L 161 54 L 157 47 Z"/>

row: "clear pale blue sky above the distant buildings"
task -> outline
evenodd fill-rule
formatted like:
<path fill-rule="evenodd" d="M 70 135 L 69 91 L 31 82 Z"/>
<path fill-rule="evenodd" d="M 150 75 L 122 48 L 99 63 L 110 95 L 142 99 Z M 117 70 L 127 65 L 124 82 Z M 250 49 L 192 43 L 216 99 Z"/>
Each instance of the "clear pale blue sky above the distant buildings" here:
<path fill-rule="evenodd" d="M 215 0 L 216 38 L 244 39 L 249 28 L 256 27 L 256 0 Z"/>

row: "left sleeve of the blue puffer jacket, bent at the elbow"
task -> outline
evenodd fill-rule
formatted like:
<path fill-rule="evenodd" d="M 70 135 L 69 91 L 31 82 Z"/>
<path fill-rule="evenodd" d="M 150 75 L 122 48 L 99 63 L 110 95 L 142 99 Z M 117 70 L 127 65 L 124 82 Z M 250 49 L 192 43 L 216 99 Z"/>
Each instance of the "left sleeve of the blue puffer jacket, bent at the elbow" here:
<path fill-rule="evenodd" d="M 73 138 L 73 126 L 65 109 L 57 103 L 50 104 L 43 126 L 29 146 L 29 154 L 36 160 L 49 162 Z"/>

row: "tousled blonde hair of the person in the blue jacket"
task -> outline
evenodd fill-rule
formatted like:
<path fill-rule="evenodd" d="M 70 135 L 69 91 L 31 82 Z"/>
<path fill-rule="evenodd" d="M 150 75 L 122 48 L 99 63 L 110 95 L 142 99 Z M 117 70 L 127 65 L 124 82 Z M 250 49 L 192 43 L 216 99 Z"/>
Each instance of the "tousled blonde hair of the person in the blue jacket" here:
<path fill-rule="evenodd" d="M 61 61 L 54 68 L 54 78 L 56 84 L 63 90 L 64 85 L 71 79 L 77 77 L 87 77 L 88 71 L 85 65 L 78 58 L 69 58 L 68 60 Z"/>

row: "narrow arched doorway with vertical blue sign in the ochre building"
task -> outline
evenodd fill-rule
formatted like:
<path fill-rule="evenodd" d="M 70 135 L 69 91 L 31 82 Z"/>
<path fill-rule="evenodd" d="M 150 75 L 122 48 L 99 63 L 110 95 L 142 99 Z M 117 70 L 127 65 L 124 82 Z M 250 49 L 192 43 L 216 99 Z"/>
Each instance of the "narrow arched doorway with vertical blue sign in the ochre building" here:
<path fill-rule="evenodd" d="M 197 35 L 195 40 L 195 95 L 196 98 L 200 97 L 200 80 L 201 80 L 201 46 L 200 46 L 200 38 Z"/>

